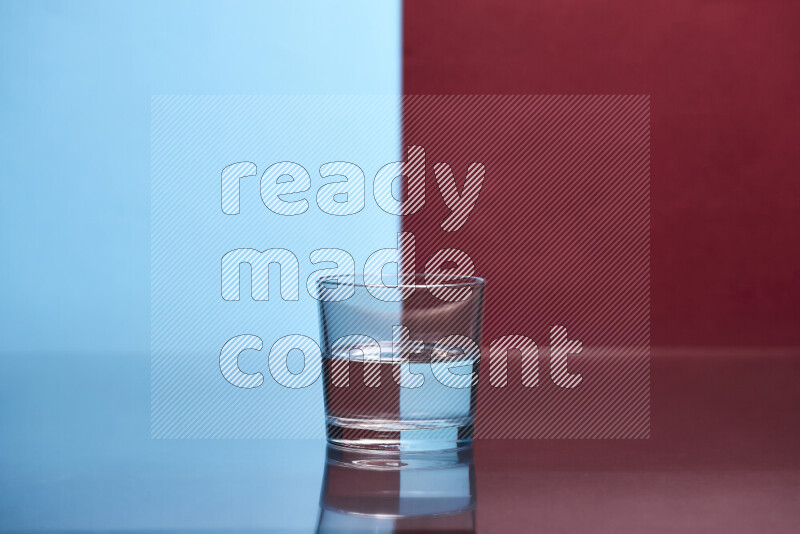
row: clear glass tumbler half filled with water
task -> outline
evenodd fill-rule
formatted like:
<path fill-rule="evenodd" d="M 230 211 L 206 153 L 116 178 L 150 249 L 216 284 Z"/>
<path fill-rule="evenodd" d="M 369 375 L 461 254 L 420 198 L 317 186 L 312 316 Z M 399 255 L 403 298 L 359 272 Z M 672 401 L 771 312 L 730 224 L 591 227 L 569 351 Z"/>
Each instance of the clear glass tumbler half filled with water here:
<path fill-rule="evenodd" d="M 318 290 L 328 441 L 390 451 L 471 444 L 484 281 L 331 276 Z"/>

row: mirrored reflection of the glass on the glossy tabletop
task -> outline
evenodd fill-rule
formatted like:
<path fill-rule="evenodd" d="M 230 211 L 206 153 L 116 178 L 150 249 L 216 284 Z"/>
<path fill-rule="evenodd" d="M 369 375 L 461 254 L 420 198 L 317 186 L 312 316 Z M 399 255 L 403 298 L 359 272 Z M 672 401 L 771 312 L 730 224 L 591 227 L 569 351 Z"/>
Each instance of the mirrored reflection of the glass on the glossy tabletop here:
<path fill-rule="evenodd" d="M 319 534 L 475 532 L 472 447 L 371 452 L 328 446 Z"/>

